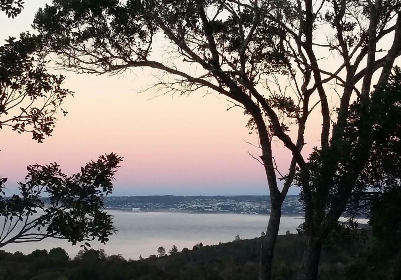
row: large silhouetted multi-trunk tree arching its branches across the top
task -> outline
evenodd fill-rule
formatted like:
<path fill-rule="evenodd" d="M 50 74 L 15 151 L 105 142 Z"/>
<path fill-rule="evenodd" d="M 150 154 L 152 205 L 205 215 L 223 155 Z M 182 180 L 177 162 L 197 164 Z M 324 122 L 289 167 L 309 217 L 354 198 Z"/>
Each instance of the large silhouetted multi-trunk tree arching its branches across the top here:
<path fill-rule="evenodd" d="M 230 109 L 244 110 L 261 148 L 261 156 L 252 156 L 265 170 L 271 199 L 259 279 L 270 279 L 282 203 L 295 180 L 302 186 L 308 234 L 298 278 L 315 279 L 322 243 L 336 226 L 369 155 L 367 132 L 373 122 L 368 116 L 377 102 L 373 97 L 400 55 L 398 5 L 396 0 L 53 1 L 39 10 L 34 27 L 64 69 L 113 75 L 150 67 L 168 74 L 155 84 L 165 92 L 215 91 L 232 102 Z M 160 34 L 168 48 L 154 43 Z M 390 34 L 389 51 L 376 57 L 376 46 Z M 322 59 L 332 53 L 341 62 Z M 352 142 L 345 134 L 356 99 L 361 107 L 355 112 L 363 121 Z M 305 131 L 313 126 L 307 122 L 310 116 L 322 125 L 313 127 L 319 130 L 320 144 L 306 158 L 302 149 Z M 286 174 L 277 169 L 272 140 L 292 154 Z M 343 158 L 348 158 L 345 166 Z"/>

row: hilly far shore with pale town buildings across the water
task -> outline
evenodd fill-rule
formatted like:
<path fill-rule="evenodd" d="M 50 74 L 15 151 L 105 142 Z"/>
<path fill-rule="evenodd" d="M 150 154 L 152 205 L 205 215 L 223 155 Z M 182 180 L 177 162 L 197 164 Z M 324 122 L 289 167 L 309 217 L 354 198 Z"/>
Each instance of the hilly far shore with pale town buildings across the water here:
<path fill-rule="evenodd" d="M 303 214 L 299 195 L 288 195 L 283 203 L 283 215 Z M 188 212 L 269 214 L 270 197 L 259 195 L 238 196 L 132 196 L 105 197 L 106 209 L 134 212 Z"/>

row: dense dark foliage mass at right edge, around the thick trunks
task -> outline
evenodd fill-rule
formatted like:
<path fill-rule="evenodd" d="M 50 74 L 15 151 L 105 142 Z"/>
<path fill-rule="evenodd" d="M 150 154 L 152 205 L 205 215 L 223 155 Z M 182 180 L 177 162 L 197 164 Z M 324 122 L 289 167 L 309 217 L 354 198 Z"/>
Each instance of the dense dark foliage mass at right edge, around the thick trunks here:
<path fill-rule="evenodd" d="M 315 149 L 311 154 L 308 163 L 310 170 L 308 192 L 310 199 L 314 201 L 311 209 L 316 213 L 322 213 L 320 219 L 324 215 L 330 219 L 332 211 L 339 211 L 340 214 L 344 211 L 341 207 L 345 205 L 339 205 L 335 193 L 350 192 L 350 199 L 345 201 L 348 205 L 345 210 L 353 217 L 362 213 L 369 214 L 370 199 L 377 198 L 383 190 L 399 187 L 400 78 L 400 69 L 395 67 L 389 77 L 389 83 L 382 87 L 378 94 L 373 95 L 369 108 L 363 105 L 361 99 L 354 101 L 349 109 L 343 139 L 329 149 Z M 365 110 L 369 110 L 369 114 Z M 365 142 L 360 140 L 367 138 L 369 140 Z M 362 148 L 364 154 L 360 154 Z M 334 175 L 333 170 L 336 170 Z M 352 180 L 350 179 L 352 176 L 355 177 L 355 183 L 350 186 L 348 180 Z M 301 179 L 299 185 L 302 185 Z M 305 199 L 305 193 L 302 191 L 301 200 Z"/>

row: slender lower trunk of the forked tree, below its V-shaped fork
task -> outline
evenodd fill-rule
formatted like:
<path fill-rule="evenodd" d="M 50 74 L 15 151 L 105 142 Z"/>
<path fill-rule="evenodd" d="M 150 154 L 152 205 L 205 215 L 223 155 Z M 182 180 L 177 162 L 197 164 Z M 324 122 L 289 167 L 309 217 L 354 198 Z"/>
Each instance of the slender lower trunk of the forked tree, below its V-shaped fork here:
<path fill-rule="evenodd" d="M 272 204 L 269 223 L 267 224 L 266 235 L 265 237 L 263 237 L 262 246 L 260 250 L 259 280 L 271 279 L 273 251 L 277 240 L 278 230 L 280 227 L 280 218 L 281 218 L 281 204 L 275 207 L 273 207 Z"/>

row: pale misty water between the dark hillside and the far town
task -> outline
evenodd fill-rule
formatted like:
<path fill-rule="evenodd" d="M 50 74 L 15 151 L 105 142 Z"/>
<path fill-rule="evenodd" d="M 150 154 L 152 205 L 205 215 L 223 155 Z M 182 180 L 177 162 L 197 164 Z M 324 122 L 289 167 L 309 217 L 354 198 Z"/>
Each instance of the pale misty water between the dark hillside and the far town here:
<path fill-rule="evenodd" d="M 163 246 L 168 251 L 173 244 L 178 250 L 184 247 L 192 249 L 198 242 L 213 245 L 232 241 L 239 234 L 241 239 L 260 236 L 266 231 L 267 215 L 241 214 L 190 214 L 190 213 L 132 213 L 109 211 L 114 216 L 115 227 L 119 230 L 110 237 L 106 244 L 93 241 L 92 248 L 103 248 L 107 255 L 122 254 L 124 258 L 138 259 L 156 254 Z M 301 217 L 282 217 L 280 234 L 287 230 L 296 233 L 296 227 L 302 223 Z M 36 249 L 64 248 L 71 258 L 79 251 L 79 246 L 71 246 L 67 241 L 45 239 L 41 242 L 10 244 L 0 250 L 30 253 Z"/>

